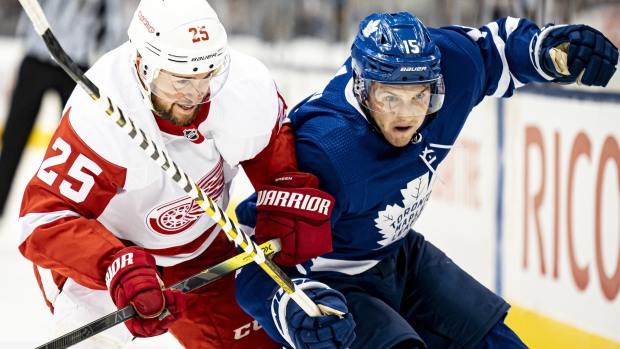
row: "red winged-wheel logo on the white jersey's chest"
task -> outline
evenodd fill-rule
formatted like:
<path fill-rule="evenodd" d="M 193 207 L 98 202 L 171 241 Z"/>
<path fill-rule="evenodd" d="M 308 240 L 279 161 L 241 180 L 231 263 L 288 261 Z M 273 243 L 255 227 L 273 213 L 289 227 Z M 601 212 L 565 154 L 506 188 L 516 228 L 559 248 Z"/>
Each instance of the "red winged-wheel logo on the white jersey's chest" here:
<path fill-rule="evenodd" d="M 217 201 L 224 192 L 223 160 L 196 184 L 211 198 Z M 204 210 L 189 197 L 180 198 L 154 208 L 146 217 L 147 225 L 154 231 L 173 235 L 189 228 L 200 218 Z"/>

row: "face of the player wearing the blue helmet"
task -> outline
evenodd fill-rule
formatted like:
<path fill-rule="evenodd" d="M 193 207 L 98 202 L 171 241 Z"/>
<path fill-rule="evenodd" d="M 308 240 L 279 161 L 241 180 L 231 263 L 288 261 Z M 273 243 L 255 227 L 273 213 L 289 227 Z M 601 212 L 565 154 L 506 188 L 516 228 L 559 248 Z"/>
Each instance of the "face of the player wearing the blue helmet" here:
<path fill-rule="evenodd" d="M 404 147 L 424 122 L 430 85 L 386 85 L 374 82 L 368 94 L 370 113 L 385 139 Z"/>

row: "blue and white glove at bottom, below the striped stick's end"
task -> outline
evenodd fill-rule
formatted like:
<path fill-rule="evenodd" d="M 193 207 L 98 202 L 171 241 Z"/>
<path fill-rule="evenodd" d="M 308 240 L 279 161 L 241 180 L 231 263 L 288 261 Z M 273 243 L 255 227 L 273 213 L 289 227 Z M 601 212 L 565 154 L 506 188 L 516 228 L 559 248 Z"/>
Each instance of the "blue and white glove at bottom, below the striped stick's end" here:
<path fill-rule="evenodd" d="M 288 333 L 297 349 L 345 349 L 355 339 L 355 321 L 347 309 L 342 293 L 329 288 L 306 289 L 304 292 L 317 305 L 325 305 L 344 313 L 310 317 L 294 301 L 286 306 Z"/>

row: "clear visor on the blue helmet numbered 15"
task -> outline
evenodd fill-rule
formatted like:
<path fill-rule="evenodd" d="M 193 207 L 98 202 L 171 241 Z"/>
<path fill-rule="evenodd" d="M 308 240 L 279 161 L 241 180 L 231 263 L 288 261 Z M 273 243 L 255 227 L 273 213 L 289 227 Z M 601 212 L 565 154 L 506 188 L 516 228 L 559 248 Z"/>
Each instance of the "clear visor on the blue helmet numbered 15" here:
<path fill-rule="evenodd" d="M 426 84 L 388 85 L 364 81 L 367 89 L 362 105 L 375 113 L 396 117 L 426 116 L 437 112 L 445 94 L 443 77 Z"/>

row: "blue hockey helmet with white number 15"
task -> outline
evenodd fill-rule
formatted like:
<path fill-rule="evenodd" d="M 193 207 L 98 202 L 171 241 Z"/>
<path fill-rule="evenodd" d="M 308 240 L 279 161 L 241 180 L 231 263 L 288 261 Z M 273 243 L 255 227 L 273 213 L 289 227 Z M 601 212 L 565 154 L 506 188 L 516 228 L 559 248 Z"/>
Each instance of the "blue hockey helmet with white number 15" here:
<path fill-rule="evenodd" d="M 372 14 L 359 27 L 351 47 L 354 92 L 369 110 L 400 116 L 428 115 L 441 108 L 444 83 L 441 54 L 426 27 L 408 12 Z M 416 101 L 419 107 L 398 111 L 394 103 L 376 110 L 373 86 L 429 85 L 429 92 Z M 375 88 L 376 90 L 376 88 Z M 422 103 L 423 105 L 419 105 Z"/>

